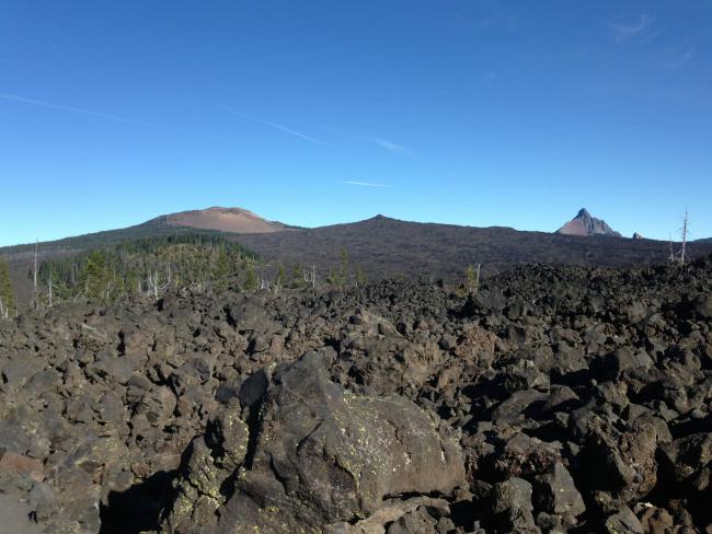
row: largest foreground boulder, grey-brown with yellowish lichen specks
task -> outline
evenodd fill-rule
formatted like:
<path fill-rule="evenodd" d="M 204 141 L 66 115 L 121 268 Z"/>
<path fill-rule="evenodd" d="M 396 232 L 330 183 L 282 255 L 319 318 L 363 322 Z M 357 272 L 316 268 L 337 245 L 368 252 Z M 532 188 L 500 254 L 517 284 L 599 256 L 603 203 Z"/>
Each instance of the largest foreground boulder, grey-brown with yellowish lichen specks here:
<path fill-rule="evenodd" d="M 185 489 L 165 524 L 179 529 L 191 498 L 198 497 L 199 508 L 188 512 L 192 522 L 207 525 L 217 510 L 217 532 L 228 525 L 239 532 L 286 532 L 367 516 L 388 496 L 447 495 L 464 480 L 459 445 L 440 437 L 425 413 L 403 397 L 345 392 L 329 382 L 328 363 L 314 352 L 275 370 L 244 464 L 248 437 L 242 430 L 232 445 L 210 434 L 205 442 L 194 441 L 181 484 Z M 239 414 L 228 410 L 217 426 L 237 420 Z M 218 442 L 218 458 L 229 456 L 229 464 L 213 460 Z M 220 489 L 226 484 L 233 484 L 227 499 Z"/>

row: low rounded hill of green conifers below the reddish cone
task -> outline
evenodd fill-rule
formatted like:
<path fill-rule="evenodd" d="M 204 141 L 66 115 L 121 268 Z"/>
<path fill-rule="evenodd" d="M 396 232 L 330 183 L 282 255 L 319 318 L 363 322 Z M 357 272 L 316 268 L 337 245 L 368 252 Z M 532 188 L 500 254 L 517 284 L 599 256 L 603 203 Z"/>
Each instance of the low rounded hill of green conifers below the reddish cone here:
<path fill-rule="evenodd" d="M 255 290 L 257 256 L 220 236 L 177 234 L 126 241 L 43 262 L 36 301 L 89 299 L 112 302 L 128 295 L 158 299 L 169 289 Z"/>

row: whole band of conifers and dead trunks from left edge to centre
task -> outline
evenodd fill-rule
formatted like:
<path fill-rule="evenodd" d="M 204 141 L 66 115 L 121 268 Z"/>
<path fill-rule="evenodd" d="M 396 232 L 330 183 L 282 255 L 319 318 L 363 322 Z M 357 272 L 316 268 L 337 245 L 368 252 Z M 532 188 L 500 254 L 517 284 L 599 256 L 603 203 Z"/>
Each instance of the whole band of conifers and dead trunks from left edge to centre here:
<path fill-rule="evenodd" d="M 24 305 L 31 307 L 77 300 L 159 299 L 166 291 L 279 292 L 368 283 L 364 269 L 349 264 L 345 247 L 338 266 L 320 275 L 314 265 L 265 264 L 236 242 L 199 232 L 128 239 L 36 265 L 36 272 L 27 271 L 34 297 Z M 8 263 L 0 257 L 0 318 L 14 316 L 24 305 L 18 305 Z"/>

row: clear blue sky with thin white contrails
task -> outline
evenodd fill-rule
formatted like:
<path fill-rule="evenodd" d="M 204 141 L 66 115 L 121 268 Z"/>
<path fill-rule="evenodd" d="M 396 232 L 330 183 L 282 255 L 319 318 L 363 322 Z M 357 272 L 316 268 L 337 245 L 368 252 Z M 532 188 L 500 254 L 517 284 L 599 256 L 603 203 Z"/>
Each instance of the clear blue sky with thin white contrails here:
<path fill-rule="evenodd" d="M 712 236 L 710 28 L 707 0 L 0 0 L 0 245 L 215 205 Z"/>

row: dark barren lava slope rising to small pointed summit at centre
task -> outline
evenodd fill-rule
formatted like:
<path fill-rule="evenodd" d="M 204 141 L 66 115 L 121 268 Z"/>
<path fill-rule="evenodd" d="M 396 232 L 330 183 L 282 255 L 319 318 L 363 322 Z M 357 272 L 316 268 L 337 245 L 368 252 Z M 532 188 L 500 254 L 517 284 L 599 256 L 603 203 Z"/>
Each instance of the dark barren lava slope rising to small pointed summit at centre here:
<path fill-rule="evenodd" d="M 582 240 L 574 235 L 522 232 L 510 228 L 474 228 L 400 221 L 378 216 L 360 222 L 294 232 L 241 235 L 244 246 L 263 259 L 315 264 L 325 275 L 346 248 L 371 279 L 405 275 L 460 279 L 468 264 L 484 274 L 532 263 L 619 266 L 665 262 L 668 243 L 654 240 Z M 690 256 L 712 252 L 712 241 L 688 244 Z"/>

